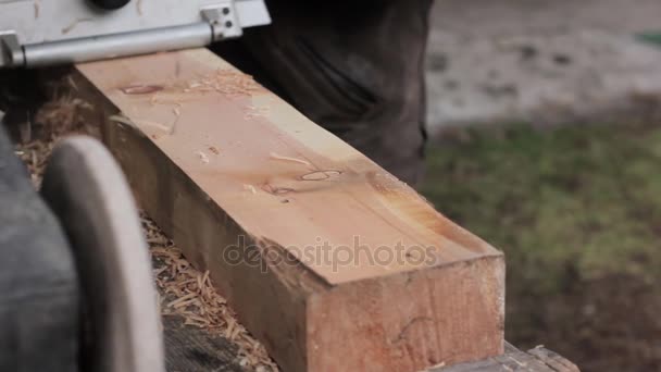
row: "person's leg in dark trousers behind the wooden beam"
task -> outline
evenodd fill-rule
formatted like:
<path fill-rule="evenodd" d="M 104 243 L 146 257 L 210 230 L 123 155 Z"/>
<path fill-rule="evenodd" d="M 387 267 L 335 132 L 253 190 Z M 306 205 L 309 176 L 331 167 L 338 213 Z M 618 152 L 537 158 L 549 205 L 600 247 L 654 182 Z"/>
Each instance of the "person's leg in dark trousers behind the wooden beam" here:
<path fill-rule="evenodd" d="M 432 0 L 270 1 L 273 25 L 216 52 L 411 184 L 424 151 Z"/>

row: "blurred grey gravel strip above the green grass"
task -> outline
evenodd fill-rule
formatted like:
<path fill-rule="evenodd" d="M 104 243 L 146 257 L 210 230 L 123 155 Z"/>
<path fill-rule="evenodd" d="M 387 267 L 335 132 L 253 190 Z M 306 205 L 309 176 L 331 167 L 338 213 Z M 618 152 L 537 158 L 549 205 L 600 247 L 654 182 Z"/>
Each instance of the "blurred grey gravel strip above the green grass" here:
<path fill-rule="evenodd" d="M 432 15 L 429 132 L 649 120 L 661 107 L 654 0 L 439 0 Z"/>

